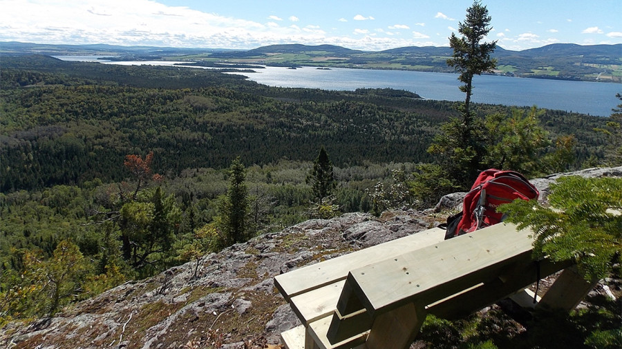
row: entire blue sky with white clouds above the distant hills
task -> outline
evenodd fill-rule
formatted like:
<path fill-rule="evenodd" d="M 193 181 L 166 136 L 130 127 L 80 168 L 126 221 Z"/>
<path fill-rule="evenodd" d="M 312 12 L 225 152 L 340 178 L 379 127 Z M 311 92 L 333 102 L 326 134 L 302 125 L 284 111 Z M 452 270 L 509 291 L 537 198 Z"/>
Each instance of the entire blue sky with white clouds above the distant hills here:
<path fill-rule="evenodd" d="M 0 0 L 2 41 L 252 49 L 449 46 L 472 0 Z M 483 0 L 506 50 L 622 43 L 622 0 Z M 621 52 L 622 55 L 622 52 Z"/>

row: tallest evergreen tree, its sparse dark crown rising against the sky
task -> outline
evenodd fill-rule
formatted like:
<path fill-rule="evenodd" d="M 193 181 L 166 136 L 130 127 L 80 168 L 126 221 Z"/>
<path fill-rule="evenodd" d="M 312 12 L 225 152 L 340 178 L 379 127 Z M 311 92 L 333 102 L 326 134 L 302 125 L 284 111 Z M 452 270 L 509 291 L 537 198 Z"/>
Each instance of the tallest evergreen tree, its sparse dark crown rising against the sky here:
<path fill-rule="evenodd" d="M 489 27 L 490 20 L 486 6 L 475 1 L 466 9 L 464 22 L 458 23 L 458 32 L 462 37 L 457 37 L 455 33 L 449 37 L 453 57 L 447 60 L 447 65 L 460 72 L 458 80 L 464 83 L 460 90 L 466 93 L 466 98 L 458 108 L 460 117 L 444 123 L 442 132 L 428 148 L 428 152 L 441 156 L 441 162 L 447 166 L 451 176 L 464 188 L 468 188 L 477 177 L 480 160 L 486 152 L 484 122 L 475 117 L 470 105 L 473 76 L 496 67 L 496 60 L 490 57 L 496 48 L 496 41 L 480 43 L 492 29 Z"/>

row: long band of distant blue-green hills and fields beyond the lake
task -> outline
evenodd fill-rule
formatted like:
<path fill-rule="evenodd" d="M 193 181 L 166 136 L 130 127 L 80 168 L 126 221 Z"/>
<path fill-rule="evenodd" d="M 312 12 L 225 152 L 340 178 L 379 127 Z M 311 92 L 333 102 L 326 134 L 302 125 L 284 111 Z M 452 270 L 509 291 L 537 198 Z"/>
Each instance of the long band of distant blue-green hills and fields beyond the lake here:
<path fill-rule="evenodd" d="M 110 54 L 122 59 L 178 59 L 217 63 L 255 63 L 267 66 L 315 66 L 322 68 L 368 68 L 453 72 L 446 64 L 449 47 L 408 46 L 377 52 L 341 46 L 302 44 L 270 45 L 252 50 L 211 48 L 157 48 L 151 46 L 43 45 L 0 43 L 2 54 Z M 541 48 L 512 51 L 498 47 L 496 74 L 540 79 L 622 82 L 622 44 L 581 46 L 554 43 Z"/>

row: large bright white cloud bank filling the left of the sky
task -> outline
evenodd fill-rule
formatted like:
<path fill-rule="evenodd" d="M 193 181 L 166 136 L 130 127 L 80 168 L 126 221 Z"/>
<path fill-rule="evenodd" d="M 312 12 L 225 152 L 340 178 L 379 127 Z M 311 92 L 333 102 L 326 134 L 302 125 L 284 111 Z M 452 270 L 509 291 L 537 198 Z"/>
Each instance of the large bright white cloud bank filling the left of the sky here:
<path fill-rule="evenodd" d="M 252 48 L 263 38 L 288 35 L 254 21 L 149 0 L 5 3 L 9 4 L 0 12 L 0 23 L 11 26 L 0 27 L 0 40 Z"/>

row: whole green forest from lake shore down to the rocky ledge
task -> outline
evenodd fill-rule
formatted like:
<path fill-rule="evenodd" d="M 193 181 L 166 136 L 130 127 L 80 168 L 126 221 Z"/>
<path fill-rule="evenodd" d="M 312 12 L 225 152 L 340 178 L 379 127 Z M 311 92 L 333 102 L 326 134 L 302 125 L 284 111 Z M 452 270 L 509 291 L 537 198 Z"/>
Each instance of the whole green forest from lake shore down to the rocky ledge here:
<path fill-rule="evenodd" d="M 330 213 L 370 211 L 378 188 L 435 162 L 428 147 L 458 114 L 455 103 L 411 92 L 269 88 L 193 68 L 3 57 L 1 77 L 0 326 L 187 261 L 197 236 L 218 234 L 236 157 L 254 235 L 317 217 L 305 178 L 322 146 L 337 184 Z M 607 121 L 538 117 L 550 139 L 574 135 L 566 170 L 599 163 L 606 138 L 594 128 Z M 79 274 L 59 272 L 68 265 Z M 54 275 L 65 275 L 54 289 L 66 295 L 33 307 L 50 290 L 24 282 Z"/>

